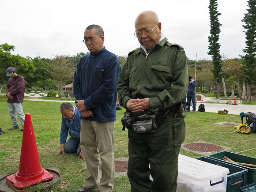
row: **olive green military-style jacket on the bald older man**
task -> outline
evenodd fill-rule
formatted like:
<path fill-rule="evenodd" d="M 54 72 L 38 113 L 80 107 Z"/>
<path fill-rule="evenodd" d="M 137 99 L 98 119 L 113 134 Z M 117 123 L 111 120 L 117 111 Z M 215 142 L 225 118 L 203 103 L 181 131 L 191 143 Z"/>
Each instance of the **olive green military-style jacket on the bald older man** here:
<path fill-rule="evenodd" d="M 167 38 L 148 55 L 142 48 L 130 52 L 117 83 L 122 107 L 129 99 L 150 98 L 150 109 L 167 109 L 181 102 L 187 90 L 186 54 L 183 47 L 169 43 Z"/>

